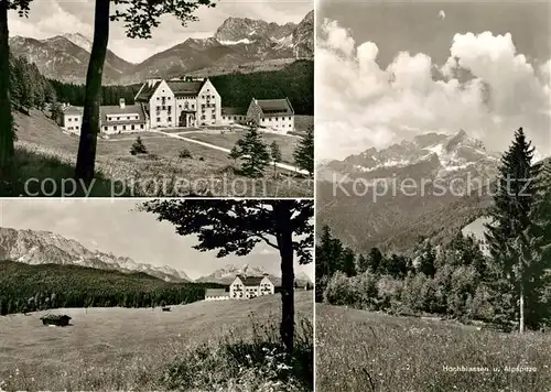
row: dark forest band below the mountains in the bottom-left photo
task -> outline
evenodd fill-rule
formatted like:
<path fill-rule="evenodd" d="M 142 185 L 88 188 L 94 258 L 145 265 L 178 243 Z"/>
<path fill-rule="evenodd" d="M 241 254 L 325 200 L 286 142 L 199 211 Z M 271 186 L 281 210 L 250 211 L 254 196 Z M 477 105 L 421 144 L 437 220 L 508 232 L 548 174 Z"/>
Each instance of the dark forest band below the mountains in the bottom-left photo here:
<path fill-rule="evenodd" d="M 151 307 L 204 300 L 216 283 L 169 283 L 144 273 L 0 261 L 0 315 L 57 307 Z"/>

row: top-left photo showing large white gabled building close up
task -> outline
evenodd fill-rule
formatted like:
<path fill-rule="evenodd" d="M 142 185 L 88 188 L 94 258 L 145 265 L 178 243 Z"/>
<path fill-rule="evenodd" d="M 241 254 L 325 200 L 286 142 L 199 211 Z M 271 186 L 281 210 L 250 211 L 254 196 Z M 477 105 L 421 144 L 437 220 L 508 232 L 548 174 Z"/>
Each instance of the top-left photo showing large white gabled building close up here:
<path fill-rule="evenodd" d="M 1 0 L 0 196 L 313 197 L 313 9 Z"/>

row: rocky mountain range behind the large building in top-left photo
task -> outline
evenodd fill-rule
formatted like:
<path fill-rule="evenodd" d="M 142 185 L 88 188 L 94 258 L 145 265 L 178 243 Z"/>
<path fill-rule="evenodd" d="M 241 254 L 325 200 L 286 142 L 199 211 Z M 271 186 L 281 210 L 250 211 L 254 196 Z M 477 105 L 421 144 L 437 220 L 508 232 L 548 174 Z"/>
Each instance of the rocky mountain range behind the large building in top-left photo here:
<path fill-rule="evenodd" d="M 212 37 L 187 39 L 140 64 L 127 62 L 108 50 L 104 84 L 128 85 L 148 78 L 181 77 L 192 72 L 205 75 L 240 68 L 253 72 L 270 62 L 284 65 L 289 62 L 282 59 L 313 58 L 313 11 L 298 24 L 228 18 Z M 91 41 L 80 33 L 45 40 L 10 37 L 10 50 L 15 56 L 25 56 L 35 63 L 44 76 L 67 83 L 85 81 L 90 48 Z M 250 64 L 253 66 L 248 66 Z"/>

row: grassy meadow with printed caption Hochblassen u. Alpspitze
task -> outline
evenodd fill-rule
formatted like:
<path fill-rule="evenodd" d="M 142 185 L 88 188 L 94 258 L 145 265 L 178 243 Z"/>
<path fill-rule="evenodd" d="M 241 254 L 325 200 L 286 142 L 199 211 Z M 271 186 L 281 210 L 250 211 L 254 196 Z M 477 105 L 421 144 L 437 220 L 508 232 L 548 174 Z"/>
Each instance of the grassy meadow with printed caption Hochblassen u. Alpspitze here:
<path fill-rule="evenodd" d="M 316 391 L 544 392 L 551 386 L 549 347 L 549 334 L 519 336 L 316 304 Z"/>

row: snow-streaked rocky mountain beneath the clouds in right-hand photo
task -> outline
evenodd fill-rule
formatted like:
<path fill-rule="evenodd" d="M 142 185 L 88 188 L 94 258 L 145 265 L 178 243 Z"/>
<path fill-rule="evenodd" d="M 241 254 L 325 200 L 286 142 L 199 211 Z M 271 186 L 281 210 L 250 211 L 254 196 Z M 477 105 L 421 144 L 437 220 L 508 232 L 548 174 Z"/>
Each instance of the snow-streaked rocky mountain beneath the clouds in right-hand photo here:
<path fill-rule="evenodd" d="M 491 204 L 500 163 L 479 140 L 425 133 L 318 166 L 317 227 L 357 251 L 408 252 L 421 237 L 451 239 Z"/>

